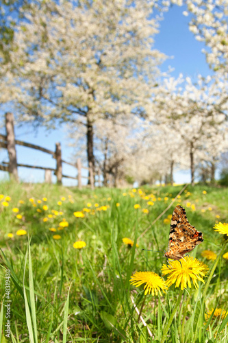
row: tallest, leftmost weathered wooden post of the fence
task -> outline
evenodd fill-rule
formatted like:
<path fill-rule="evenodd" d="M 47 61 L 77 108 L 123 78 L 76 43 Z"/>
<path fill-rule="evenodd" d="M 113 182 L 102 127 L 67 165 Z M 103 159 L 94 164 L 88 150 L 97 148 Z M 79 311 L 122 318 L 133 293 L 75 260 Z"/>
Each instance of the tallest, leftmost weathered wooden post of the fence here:
<path fill-rule="evenodd" d="M 10 112 L 5 113 L 5 129 L 6 129 L 6 142 L 9 155 L 9 173 L 10 178 L 18 182 L 17 161 L 16 161 L 16 147 L 14 135 L 14 115 Z"/>

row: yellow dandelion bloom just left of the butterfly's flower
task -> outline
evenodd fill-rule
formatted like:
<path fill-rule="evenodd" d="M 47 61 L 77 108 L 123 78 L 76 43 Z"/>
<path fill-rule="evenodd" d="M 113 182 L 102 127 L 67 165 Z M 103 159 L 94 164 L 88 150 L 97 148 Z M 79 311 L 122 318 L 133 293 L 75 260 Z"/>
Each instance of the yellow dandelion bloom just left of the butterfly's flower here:
<path fill-rule="evenodd" d="M 135 274 L 131 275 L 131 280 L 129 280 L 131 285 L 135 285 L 139 287 L 143 283 L 144 285 L 144 294 L 152 294 L 153 296 L 159 293 L 162 296 L 162 292 L 165 292 L 168 287 L 166 286 L 165 281 L 156 273 L 154 272 L 136 272 Z"/>

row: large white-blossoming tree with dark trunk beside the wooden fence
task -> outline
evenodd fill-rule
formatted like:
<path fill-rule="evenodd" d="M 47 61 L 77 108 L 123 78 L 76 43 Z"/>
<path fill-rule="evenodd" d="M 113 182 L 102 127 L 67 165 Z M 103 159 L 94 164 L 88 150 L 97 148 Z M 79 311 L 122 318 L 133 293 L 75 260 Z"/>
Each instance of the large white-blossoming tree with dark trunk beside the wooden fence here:
<path fill-rule="evenodd" d="M 155 1 L 47 0 L 31 3 L 16 27 L 11 66 L 22 92 L 19 120 L 86 127 L 94 165 L 94 125 L 144 116 L 164 54 L 151 49 Z"/>

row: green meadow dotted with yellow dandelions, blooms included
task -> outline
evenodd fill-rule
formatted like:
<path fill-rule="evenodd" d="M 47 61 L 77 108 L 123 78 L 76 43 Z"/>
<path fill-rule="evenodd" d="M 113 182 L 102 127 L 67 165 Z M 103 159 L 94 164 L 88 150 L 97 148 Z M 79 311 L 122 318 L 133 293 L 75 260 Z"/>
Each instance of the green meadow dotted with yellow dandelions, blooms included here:
<path fill-rule="evenodd" d="M 182 188 L 2 182 L 0 341 L 228 342 L 228 190 Z M 204 241 L 169 269 L 177 204 Z"/>

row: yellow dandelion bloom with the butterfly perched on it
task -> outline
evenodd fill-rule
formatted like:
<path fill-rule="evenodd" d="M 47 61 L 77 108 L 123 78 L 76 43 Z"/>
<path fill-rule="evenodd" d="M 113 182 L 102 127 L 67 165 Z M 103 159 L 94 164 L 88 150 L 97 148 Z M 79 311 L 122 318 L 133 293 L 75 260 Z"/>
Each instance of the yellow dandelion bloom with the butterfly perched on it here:
<path fill-rule="evenodd" d="M 206 274 L 205 265 L 203 265 L 197 259 L 193 257 L 185 257 L 179 261 L 169 261 L 171 268 L 167 265 L 162 266 L 163 275 L 168 274 L 166 285 L 168 287 L 176 283 L 175 287 L 181 285 L 181 289 L 192 287 L 191 280 L 193 281 L 194 287 L 198 288 L 199 285 L 197 280 L 203 281 L 203 276 Z"/>

